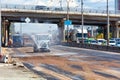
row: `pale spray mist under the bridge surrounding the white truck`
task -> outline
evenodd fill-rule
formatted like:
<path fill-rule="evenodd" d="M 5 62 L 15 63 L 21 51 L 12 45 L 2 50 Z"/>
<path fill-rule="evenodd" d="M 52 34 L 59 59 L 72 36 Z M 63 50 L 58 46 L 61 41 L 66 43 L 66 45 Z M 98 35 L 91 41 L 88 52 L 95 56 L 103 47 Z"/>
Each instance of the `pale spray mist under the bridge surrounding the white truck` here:
<path fill-rule="evenodd" d="M 52 46 L 60 44 L 62 40 L 62 30 L 58 28 L 57 24 L 50 23 L 14 23 L 12 28 L 12 33 L 20 33 L 24 38 L 25 46 L 32 46 L 33 40 L 31 35 L 34 34 L 50 34 Z"/>

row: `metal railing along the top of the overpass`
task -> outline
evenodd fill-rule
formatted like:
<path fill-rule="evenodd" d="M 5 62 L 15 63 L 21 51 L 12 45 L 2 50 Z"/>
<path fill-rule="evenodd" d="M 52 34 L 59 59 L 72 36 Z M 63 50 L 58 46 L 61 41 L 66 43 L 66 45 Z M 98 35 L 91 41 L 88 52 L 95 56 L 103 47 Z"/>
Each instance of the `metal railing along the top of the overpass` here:
<path fill-rule="evenodd" d="M 47 7 L 45 6 L 44 8 L 41 9 L 36 9 L 36 6 L 38 5 L 16 5 L 16 4 L 1 4 L 2 9 L 22 9 L 22 10 L 43 10 L 43 11 L 61 11 L 65 12 L 67 11 L 66 7 Z M 98 10 L 98 9 L 84 9 L 84 13 L 101 13 L 101 14 L 107 14 L 106 10 Z M 69 12 L 80 12 L 81 9 L 78 7 L 70 7 Z M 115 10 L 109 10 L 110 14 L 119 14 L 120 11 L 115 11 Z"/>

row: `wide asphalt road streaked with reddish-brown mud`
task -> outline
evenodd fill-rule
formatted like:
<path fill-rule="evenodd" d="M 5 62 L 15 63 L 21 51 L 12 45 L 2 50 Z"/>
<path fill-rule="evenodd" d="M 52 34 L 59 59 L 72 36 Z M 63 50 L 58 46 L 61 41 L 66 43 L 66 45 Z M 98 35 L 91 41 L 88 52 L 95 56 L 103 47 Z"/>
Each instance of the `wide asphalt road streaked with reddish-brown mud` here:
<path fill-rule="evenodd" d="M 12 56 L 47 80 L 120 80 L 120 54 L 52 46 L 51 52 L 34 53 L 32 47 L 11 48 Z"/>

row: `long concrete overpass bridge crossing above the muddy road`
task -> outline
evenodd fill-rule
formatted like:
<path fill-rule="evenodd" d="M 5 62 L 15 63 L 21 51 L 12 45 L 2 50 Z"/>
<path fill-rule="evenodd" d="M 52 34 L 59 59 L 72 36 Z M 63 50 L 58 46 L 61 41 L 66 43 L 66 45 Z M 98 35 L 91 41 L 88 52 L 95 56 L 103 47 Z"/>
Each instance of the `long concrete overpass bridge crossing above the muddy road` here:
<path fill-rule="evenodd" d="M 18 7 L 14 5 L 10 7 L 9 5 L 2 5 L 1 15 L 2 15 L 2 28 L 5 34 L 9 35 L 9 26 L 11 22 L 24 22 L 26 17 L 31 19 L 31 22 L 38 23 L 55 23 L 61 28 L 61 31 L 64 31 L 64 20 L 66 20 L 67 15 L 69 19 L 72 20 L 73 25 L 81 25 L 81 11 L 77 9 L 70 9 L 67 14 L 66 10 L 56 10 L 55 8 L 40 9 L 36 10 L 35 8 L 29 6 Z M 110 17 L 110 26 L 112 26 L 112 33 L 114 37 L 119 36 L 119 20 L 120 14 L 115 13 L 114 11 L 109 11 Z M 99 10 L 88 10 L 84 9 L 84 25 L 95 25 L 102 26 L 104 29 L 107 27 L 107 14 L 106 11 Z M 7 33 L 6 33 L 7 30 Z M 63 33 L 63 32 L 62 32 Z M 64 34 L 63 34 L 64 36 Z"/>

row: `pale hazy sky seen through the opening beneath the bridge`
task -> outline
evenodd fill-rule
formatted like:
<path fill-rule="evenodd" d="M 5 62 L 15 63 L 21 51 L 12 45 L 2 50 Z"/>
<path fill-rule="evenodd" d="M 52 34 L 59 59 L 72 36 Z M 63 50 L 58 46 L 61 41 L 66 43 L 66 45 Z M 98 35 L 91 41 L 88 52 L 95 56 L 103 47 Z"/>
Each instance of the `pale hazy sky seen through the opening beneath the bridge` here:
<path fill-rule="evenodd" d="M 51 33 L 56 31 L 57 24 L 39 24 L 39 23 L 15 23 L 15 32 L 19 33 Z M 46 28 L 47 27 L 47 28 Z"/>

